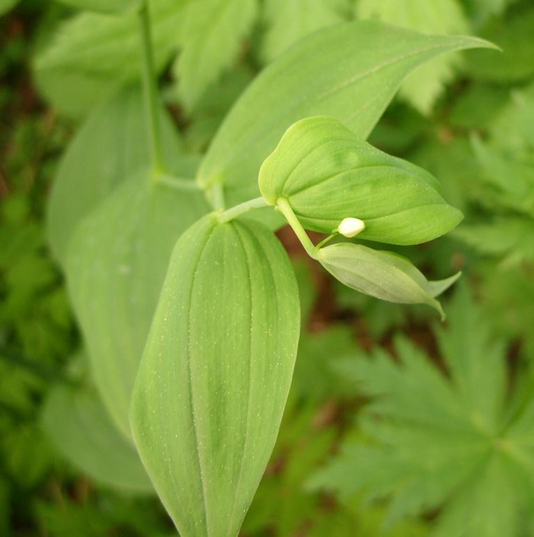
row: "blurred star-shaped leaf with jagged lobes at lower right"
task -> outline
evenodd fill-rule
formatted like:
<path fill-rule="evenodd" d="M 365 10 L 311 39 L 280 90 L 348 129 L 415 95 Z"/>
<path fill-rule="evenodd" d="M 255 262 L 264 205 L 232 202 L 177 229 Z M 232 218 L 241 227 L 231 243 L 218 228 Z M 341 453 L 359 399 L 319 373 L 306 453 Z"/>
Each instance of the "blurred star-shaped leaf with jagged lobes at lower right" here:
<path fill-rule="evenodd" d="M 373 396 L 361 425 L 371 442 L 349 440 L 310 482 L 352 497 L 390 497 L 391 520 L 439 511 L 435 535 L 515 537 L 534 492 L 533 403 L 505 412 L 505 346 L 465 289 L 438 332 L 448 377 L 400 338 L 400 363 L 377 350 L 340 374 Z M 528 511 L 526 511 L 528 512 Z"/>

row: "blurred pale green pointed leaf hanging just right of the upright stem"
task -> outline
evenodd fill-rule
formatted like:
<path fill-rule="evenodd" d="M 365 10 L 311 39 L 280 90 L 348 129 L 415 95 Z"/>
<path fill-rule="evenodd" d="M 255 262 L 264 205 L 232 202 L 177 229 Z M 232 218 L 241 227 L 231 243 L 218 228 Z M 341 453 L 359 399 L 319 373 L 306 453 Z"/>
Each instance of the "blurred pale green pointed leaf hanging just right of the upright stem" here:
<path fill-rule="evenodd" d="M 179 90 L 191 109 L 209 84 L 235 60 L 256 17 L 257 0 L 191 2 L 183 15 Z"/>

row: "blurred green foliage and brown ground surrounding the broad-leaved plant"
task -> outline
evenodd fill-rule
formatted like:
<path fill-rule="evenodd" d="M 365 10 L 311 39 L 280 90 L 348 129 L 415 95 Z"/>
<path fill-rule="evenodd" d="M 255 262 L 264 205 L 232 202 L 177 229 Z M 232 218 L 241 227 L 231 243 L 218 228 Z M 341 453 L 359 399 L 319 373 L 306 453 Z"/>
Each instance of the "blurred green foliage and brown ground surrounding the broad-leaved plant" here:
<path fill-rule="evenodd" d="M 225 1 L 219 18 L 220 0 L 152 1 L 165 104 L 193 167 L 254 74 L 325 26 L 375 18 L 503 49 L 424 66 L 371 136 L 464 211 L 450 236 L 402 250 L 432 278 L 464 271 L 444 326 L 342 287 L 280 231 L 302 337 L 241 534 L 533 536 L 533 2 Z M 44 231 L 74 133 L 139 77 L 133 16 L 70 3 L 0 0 L 0 535 L 172 535 L 92 390 Z"/>

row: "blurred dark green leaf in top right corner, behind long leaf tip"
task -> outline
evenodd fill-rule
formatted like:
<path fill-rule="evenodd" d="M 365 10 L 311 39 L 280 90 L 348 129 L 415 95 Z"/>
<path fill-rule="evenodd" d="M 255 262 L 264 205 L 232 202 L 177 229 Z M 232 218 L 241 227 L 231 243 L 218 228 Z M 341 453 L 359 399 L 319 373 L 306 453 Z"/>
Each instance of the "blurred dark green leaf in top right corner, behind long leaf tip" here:
<path fill-rule="evenodd" d="M 484 38 L 503 49 L 502 54 L 469 53 L 465 72 L 477 80 L 498 83 L 526 81 L 534 74 L 534 9 L 525 2 L 508 17 L 494 17 L 482 31 Z"/>

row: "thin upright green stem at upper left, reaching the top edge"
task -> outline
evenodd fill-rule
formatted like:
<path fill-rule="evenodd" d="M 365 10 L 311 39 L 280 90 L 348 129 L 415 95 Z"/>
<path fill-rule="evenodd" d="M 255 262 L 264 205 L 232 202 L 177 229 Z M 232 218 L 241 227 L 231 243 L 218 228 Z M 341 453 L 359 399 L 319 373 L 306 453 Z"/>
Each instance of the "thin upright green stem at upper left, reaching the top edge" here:
<path fill-rule="evenodd" d="M 165 166 L 163 166 L 163 149 L 161 145 L 161 129 L 159 125 L 160 102 L 156 70 L 154 68 L 154 54 L 152 52 L 152 31 L 150 26 L 148 0 L 143 1 L 138 17 L 143 67 L 143 95 L 149 125 L 152 167 L 156 171 L 163 172 Z"/>

